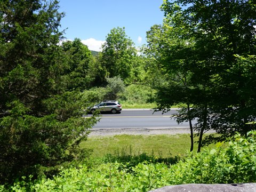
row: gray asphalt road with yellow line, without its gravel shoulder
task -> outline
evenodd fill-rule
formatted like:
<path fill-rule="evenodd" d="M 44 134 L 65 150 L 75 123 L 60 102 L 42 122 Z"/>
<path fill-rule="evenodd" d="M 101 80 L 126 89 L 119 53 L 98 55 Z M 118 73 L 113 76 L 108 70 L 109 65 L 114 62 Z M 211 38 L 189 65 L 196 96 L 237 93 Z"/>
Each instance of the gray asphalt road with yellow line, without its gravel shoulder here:
<path fill-rule="evenodd" d="M 162 114 L 158 111 L 153 114 L 152 110 L 122 110 L 120 114 L 101 114 L 100 121 L 93 126 L 94 129 L 135 129 L 135 128 L 188 128 L 188 123 L 178 124 L 174 118 L 176 110 Z"/>

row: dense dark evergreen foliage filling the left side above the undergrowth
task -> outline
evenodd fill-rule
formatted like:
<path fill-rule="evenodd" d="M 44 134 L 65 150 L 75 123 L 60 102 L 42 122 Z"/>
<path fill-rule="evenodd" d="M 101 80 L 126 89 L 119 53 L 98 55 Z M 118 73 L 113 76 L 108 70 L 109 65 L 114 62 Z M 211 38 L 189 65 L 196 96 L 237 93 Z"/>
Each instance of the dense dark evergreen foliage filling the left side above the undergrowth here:
<path fill-rule="evenodd" d="M 59 46 L 58 7 L 57 1 L 0 2 L 0 183 L 52 175 L 78 160 L 79 142 L 96 122 L 81 118 L 86 99 L 79 91 L 91 53 L 79 41 Z"/>

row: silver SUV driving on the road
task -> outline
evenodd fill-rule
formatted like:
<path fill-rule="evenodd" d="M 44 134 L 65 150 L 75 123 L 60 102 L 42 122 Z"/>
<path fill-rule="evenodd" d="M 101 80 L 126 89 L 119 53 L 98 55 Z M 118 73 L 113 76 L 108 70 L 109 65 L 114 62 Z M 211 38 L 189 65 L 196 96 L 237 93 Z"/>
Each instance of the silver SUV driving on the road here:
<path fill-rule="evenodd" d="M 101 103 L 93 106 L 90 111 L 93 113 L 95 110 L 100 112 L 110 111 L 112 114 L 116 114 L 117 112 L 121 112 L 122 105 L 118 101 L 102 101 Z"/>

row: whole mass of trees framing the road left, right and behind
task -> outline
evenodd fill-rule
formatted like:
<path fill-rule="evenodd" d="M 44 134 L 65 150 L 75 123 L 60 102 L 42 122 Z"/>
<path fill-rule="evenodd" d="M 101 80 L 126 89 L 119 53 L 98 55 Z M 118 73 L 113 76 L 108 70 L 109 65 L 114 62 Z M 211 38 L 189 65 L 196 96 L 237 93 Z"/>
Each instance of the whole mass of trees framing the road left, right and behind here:
<path fill-rule="evenodd" d="M 253 1 L 163 1 L 165 19 L 138 50 L 125 28 L 111 29 L 92 55 L 76 38 L 63 41 L 58 1 L 0 2 L 0 178 L 51 175 L 83 161 L 97 115 L 85 91 L 121 81 L 157 90 L 156 110 L 180 105 L 193 150 L 254 129 L 256 9 Z M 246 14 L 245 14 L 246 13 Z M 60 43 L 62 42 L 62 43 Z M 108 85 L 108 87 L 111 87 Z M 106 94 L 115 98 L 111 91 Z M 193 119 L 197 123 L 193 125 Z M 203 134 L 213 129 L 220 133 Z"/>

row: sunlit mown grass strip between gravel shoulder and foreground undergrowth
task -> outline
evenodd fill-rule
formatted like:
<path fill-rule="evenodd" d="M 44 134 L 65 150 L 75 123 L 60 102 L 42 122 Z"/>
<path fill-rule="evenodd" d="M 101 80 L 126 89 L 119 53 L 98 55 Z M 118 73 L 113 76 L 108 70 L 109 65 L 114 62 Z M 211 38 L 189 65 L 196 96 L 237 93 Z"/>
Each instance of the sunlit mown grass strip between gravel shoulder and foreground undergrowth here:
<path fill-rule="evenodd" d="M 190 149 L 189 134 L 177 135 L 115 135 L 90 137 L 81 143 L 82 148 L 93 149 L 92 158 L 102 158 L 106 154 L 146 153 L 167 158 L 186 154 Z M 126 151 L 126 152 L 124 152 Z"/>

